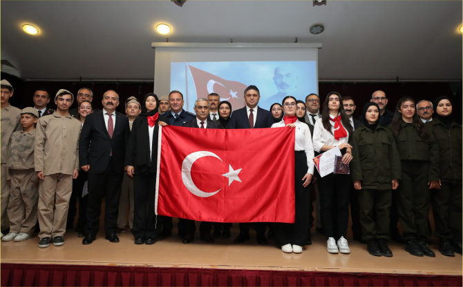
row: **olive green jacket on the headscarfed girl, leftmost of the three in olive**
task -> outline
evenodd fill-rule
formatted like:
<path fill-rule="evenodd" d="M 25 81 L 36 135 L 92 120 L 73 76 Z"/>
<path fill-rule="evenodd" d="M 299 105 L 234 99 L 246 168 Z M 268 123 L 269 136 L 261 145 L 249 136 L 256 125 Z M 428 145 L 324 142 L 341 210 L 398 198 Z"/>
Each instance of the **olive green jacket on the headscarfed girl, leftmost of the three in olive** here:
<path fill-rule="evenodd" d="M 350 143 L 352 181 L 360 180 L 362 189 L 392 190 L 393 179 L 401 178 L 400 157 L 393 133 L 382 126 L 377 126 L 374 131 L 361 126 L 352 133 Z"/>

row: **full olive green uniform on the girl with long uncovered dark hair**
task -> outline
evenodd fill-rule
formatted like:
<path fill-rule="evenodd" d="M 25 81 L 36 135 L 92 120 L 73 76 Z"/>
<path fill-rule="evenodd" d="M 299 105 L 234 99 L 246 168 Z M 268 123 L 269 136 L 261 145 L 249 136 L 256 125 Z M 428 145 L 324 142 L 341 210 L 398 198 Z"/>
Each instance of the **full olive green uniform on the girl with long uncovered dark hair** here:
<path fill-rule="evenodd" d="M 431 192 L 428 181 L 439 181 L 439 148 L 432 133 L 419 137 L 412 123 L 401 121 L 395 139 L 399 151 L 402 175 L 397 194 L 399 220 L 404 232 L 402 239 L 428 242 L 428 212 Z"/>

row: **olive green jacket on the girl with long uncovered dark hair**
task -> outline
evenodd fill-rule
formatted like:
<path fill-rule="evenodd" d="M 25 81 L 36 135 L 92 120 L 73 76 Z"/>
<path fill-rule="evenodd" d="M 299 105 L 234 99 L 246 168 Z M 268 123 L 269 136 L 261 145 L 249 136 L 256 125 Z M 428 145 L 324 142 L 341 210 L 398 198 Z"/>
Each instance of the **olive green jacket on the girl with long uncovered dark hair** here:
<path fill-rule="evenodd" d="M 419 137 L 413 124 L 401 121 L 401 130 L 395 143 L 402 161 L 428 161 L 428 180 L 439 181 L 439 148 L 434 135 L 428 132 L 428 138 Z"/>

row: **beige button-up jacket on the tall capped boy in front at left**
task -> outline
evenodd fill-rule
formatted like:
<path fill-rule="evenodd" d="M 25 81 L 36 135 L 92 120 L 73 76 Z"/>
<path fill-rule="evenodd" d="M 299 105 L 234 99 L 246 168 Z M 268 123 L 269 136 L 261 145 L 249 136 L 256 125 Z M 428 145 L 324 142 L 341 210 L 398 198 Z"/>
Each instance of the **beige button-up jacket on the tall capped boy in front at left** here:
<path fill-rule="evenodd" d="M 79 135 L 82 124 L 67 115 L 41 117 L 35 135 L 35 171 L 44 175 L 73 175 L 79 169 Z"/>

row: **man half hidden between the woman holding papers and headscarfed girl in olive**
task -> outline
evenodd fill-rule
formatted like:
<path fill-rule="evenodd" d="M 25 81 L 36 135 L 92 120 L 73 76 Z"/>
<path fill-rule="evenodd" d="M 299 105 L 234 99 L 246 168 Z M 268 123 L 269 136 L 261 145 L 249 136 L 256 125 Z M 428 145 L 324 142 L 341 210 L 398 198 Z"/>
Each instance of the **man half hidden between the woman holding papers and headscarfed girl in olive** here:
<path fill-rule="evenodd" d="M 355 101 L 352 97 L 343 97 L 343 106 L 344 110 L 346 111 L 346 115 L 349 118 L 350 121 L 350 126 L 352 126 L 353 130 L 357 130 L 357 128 L 360 128 L 360 126 L 363 125 L 358 119 L 354 119 L 352 117 L 355 112 Z M 351 184 L 350 186 L 350 195 L 349 195 L 349 201 L 350 201 L 350 217 L 352 218 L 352 235 L 355 240 L 360 241 L 364 243 L 362 239 L 362 231 L 361 231 L 361 225 L 360 225 L 360 213 L 359 213 L 359 195 L 357 193 L 357 190 L 354 188 L 354 185 Z M 336 210 L 334 210 L 336 212 Z"/>

